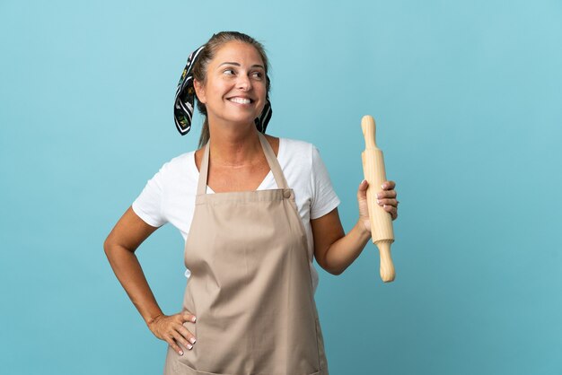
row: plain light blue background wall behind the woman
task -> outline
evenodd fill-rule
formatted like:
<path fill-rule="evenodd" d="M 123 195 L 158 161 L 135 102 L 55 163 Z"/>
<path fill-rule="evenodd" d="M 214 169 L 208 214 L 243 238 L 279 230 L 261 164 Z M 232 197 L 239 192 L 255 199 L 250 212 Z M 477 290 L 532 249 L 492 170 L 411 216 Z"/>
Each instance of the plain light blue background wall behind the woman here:
<path fill-rule="evenodd" d="M 189 52 L 214 32 L 268 48 L 272 135 L 316 144 L 347 230 L 377 120 L 398 182 L 397 279 L 367 245 L 316 293 L 329 370 L 562 373 L 560 1 L 0 2 L 0 367 L 157 374 L 154 338 L 102 242 L 163 162 Z M 170 225 L 137 251 L 179 310 Z"/>

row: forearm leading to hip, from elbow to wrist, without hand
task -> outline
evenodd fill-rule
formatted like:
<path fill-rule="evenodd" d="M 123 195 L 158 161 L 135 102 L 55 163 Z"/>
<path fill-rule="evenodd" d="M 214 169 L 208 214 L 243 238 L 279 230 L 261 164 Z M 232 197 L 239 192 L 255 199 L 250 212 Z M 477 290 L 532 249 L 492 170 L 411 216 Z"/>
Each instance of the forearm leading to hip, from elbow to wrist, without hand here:
<path fill-rule="evenodd" d="M 150 324 L 154 318 L 162 315 L 162 310 L 154 298 L 135 253 L 119 245 L 107 246 L 105 253 L 119 283 L 146 324 Z"/>

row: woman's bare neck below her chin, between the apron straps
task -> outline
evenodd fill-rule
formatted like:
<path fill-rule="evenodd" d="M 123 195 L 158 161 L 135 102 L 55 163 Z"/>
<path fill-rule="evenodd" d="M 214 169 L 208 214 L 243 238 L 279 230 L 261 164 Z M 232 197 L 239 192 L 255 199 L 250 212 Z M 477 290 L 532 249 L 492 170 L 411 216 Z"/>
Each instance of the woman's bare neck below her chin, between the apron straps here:
<path fill-rule="evenodd" d="M 216 166 L 242 167 L 253 164 L 263 154 L 254 124 L 220 126 L 209 121 L 210 147 Z"/>

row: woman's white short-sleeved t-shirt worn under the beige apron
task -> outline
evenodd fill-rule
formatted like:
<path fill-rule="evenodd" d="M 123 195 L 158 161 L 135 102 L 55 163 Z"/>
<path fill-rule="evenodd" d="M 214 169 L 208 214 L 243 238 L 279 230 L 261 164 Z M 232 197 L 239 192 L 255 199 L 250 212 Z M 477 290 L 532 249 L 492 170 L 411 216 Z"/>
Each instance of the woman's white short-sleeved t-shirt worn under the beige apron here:
<path fill-rule="evenodd" d="M 328 214 L 339 205 L 339 198 L 332 188 L 328 170 L 313 144 L 287 138 L 279 138 L 277 161 L 285 174 L 308 239 L 309 258 L 313 259 L 311 219 Z M 199 171 L 195 164 L 195 152 L 183 153 L 162 165 L 154 177 L 146 183 L 140 196 L 133 202 L 133 211 L 147 224 L 160 227 L 171 222 L 187 240 L 195 210 Z M 269 170 L 258 190 L 275 189 L 277 183 Z M 214 194 L 209 187 L 207 194 Z M 318 273 L 312 262 L 312 285 L 318 285 Z M 186 270 L 189 278 L 191 273 Z"/>

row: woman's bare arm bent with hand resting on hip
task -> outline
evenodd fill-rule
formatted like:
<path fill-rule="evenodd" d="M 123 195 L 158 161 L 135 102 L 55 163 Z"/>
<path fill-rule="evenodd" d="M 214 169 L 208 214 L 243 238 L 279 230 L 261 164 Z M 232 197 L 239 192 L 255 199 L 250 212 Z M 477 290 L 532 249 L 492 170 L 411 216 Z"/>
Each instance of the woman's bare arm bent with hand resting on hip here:
<path fill-rule="evenodd" d="M 183 355 L 179 344 L 190 350 L 196 342 L 195 336 L 183 323 L 195 323 L 196 318 L 189 311 L 171 316 L 162 313 L 135 255 L 139 245 L 157 229 L 145 223 L 129 207 L 103 243 L 103 249 L 119 283 L 123 285 L 154 336 L 166 341 L 177 353 Z"/>

